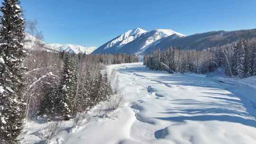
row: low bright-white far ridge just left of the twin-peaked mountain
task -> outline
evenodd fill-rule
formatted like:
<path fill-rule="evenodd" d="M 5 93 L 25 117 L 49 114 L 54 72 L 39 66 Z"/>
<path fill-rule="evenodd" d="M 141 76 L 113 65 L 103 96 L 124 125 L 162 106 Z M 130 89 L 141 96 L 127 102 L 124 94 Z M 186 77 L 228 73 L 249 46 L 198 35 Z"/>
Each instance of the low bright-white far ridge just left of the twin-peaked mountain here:
<path fill-rule="evenodd" d="M 75 54 L 91 54 L 97 47 L 91 46 L 91 47 L 86 47 L 86 46 L 81 46 L 81 45 L 71 45 L 71 44 L 66 44 L 66 45 L 61 45 L 61 44 L 49 44 L 49 46 L 53 47 L 56 51 L 59 52 L 69 52 L 69 53 L 75 53 Z"/>

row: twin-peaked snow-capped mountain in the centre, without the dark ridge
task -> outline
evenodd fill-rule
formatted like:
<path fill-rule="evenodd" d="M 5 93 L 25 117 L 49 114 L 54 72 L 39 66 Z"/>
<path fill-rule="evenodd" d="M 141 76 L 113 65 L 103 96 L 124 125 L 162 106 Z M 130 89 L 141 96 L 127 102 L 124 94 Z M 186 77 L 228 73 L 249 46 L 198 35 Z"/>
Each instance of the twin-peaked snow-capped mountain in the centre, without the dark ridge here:
<path fill-rule="evenodd" d="M 106 44 L 97 48 L 93 54 L 99 53 L 143 53 L 149 45 L 154 45 L 164 37 L 175 35 L 183 37 L 183 34 L 177 33 L 171 29 L 155 29 L 150 32 L 141 28 L 129 30 L 126 33 L 110 40 Z"/>

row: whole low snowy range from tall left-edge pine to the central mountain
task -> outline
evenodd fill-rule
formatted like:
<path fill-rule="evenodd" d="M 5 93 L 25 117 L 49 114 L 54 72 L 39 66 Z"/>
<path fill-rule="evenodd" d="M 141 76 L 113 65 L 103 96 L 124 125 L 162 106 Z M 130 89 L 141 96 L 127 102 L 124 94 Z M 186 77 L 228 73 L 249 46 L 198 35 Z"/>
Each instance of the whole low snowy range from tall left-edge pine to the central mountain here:
<path fill-rule="evenodd" d="M 25 48 L 26 49 L 39 49 L 40 50 L 46 50 L 46 51 L 56 51 L 56 52 L 69 52 L 69 53 L 75 53 L 75 54 L 91 54 L 97 47 L 91 46 L 81 46 L 81 45 L 61 45 L 61 44 L 46 44 L 42 40 L 38 40 L 36 37 L 31 36 L 26 33 L 25 36 Z"/>

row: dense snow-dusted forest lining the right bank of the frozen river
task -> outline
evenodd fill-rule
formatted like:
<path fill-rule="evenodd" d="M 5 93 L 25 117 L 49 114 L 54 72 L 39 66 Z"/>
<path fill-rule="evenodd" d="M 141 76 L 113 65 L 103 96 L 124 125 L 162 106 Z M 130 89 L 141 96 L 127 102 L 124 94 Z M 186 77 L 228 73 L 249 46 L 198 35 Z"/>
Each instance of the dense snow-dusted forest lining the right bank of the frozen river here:
<path fill-rule="evenodd" d="M 231 77 L 256 75 L 256 39 L 240 38 L 238 43 L 205 50 L 182 50 L 168 47 L 144 56 L 144 65 L 168 72 L 214 72 L 221 67 Z"/>

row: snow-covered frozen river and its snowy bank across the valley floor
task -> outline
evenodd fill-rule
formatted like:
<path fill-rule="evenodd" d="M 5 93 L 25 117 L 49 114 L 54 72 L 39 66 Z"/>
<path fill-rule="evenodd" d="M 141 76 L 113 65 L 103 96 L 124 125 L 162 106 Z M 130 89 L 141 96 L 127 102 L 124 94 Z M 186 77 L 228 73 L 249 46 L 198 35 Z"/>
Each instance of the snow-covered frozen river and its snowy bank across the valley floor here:
<path fill-rule="evenodd" d="M 168 74 L 142 63 L 110 65 L 111 71 L 125 98 L 115 117 L 92 111 L 90 122 L 72 131 L 64 122 L 51 144 L 256 144 L 255 77 Z M 22 144 L 41 144 L 45 125 L 27 122 Z"/>

